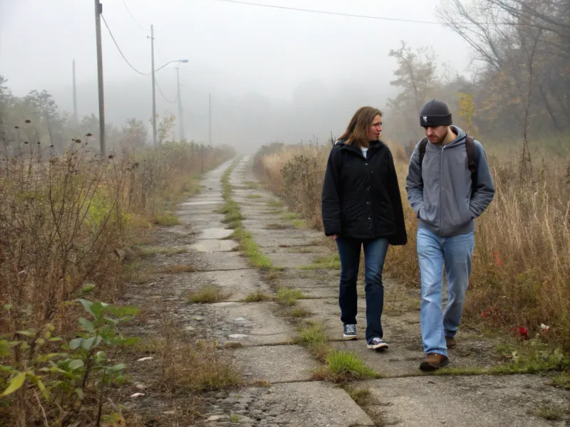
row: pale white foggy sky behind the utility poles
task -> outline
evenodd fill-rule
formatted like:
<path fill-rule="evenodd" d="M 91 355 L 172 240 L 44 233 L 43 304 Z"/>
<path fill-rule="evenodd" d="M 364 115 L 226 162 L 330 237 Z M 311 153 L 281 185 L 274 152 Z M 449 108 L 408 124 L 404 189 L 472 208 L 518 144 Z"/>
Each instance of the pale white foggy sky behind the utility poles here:
<path fill-rule="evenodd" d="M 247 0 L 246 0 L 247 1 Z M 258 3 L 390 19 L 437 21 L 437 0 L 259 0 Z M 125 6 L 126 5 L 126 6 Z M 132 16 L 131 16 L 132 15 Z M 407 42 L 432 46 L 438 64 L 468 75 L 472 53 L 442 25 L 316 14 L 221 0 L 105 0 L 103 16 L 134 68 L 150 73 L 150 25 L 155 29 L 157 84 L 176 99 L 180 66 L 187 139 L 251 152 L 274 141 L 324 142 L 338 136 L 356 108 L 385 109 L 395 60 Z M 152 115 L 150 75 L 120 56 L 102 23 L 105 120 Z M 78 115 L 98 114 L 93 1 L 0 0 L 0 75 L 14 95 L 47 90 L 71 112 L 76 60 Z M 157 112 L 177 115 L 157 89 Z M 389 130 L 390 122 L 385 122 Z M 176 127 L 176 130 L 178 126 Z"/>

